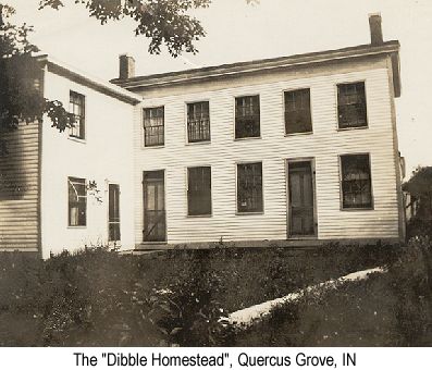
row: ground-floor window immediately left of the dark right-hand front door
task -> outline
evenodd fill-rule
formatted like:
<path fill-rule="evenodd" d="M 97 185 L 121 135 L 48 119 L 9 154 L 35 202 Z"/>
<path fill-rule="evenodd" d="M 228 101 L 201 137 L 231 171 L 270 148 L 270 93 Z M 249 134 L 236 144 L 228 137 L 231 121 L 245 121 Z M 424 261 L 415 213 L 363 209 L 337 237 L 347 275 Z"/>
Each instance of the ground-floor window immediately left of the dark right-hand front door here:
<path fill-rule="evenodd" d="M 263 211 L 261 162 L 237 164 L 237 211 Z"/>

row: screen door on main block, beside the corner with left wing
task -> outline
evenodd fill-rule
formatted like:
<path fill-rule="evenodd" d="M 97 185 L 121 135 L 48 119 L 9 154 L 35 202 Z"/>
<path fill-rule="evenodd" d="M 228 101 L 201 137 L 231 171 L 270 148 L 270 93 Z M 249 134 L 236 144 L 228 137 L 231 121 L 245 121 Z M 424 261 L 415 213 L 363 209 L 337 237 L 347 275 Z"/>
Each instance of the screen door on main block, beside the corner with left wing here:
<path fill-rule="evenodd" d="M 165 186 L 163 171 L 144 172 L 144 242 L 165 242 Z"/>

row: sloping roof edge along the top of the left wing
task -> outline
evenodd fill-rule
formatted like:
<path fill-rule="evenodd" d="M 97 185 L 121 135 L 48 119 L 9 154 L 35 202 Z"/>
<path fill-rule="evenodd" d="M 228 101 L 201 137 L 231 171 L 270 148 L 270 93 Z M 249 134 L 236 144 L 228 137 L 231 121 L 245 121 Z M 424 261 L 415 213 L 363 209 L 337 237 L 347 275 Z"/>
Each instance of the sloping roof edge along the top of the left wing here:
<path fill-rule="evenodd" d="M 54 60 L 48 54 L 37 55 L 36 59 L 44 65 L 48 66 L 48 71 L 64 76 L 84 86 L 88 86 L 96 91 L 116 98 L 129 104 L 137 104 L 143 101 L 143 97 L 126 90 L 118 85 L 107 83 L 97 77 L 87 75 L 85 72 L 78 71 L 63 62 Z"/>

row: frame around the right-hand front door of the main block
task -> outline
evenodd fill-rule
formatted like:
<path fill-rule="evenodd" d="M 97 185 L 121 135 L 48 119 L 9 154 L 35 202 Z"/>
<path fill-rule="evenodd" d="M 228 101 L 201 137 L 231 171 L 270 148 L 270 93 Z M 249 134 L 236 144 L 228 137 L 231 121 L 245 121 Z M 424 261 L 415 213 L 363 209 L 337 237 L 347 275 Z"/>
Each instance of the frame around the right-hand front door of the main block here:
<path fill-rule="evenodd" d="M 313 234 L 291 235 L 291 207 L 289 207 L 289 163 L 309 162 L 312 172 L 313 194 Z M 316 239 L 318 237 L 317 214 L 317 186 L 316 186 L 316 159 L 314 157 L 296 157 L 285 159 L 285 193 L 286 193 L 286 239 Z"/>

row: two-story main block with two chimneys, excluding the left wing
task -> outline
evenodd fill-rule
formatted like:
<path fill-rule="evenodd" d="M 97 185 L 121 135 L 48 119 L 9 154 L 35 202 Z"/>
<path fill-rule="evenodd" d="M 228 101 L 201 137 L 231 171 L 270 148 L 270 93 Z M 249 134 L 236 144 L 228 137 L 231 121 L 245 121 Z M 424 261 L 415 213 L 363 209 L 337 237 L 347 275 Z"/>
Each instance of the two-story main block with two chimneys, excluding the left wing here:
<path fill-rule="evenodd" d="M 134 123 L 135 244 L 402 239 L 394 99 L 399 44 L 371 44 L 113 83 Z"/>

